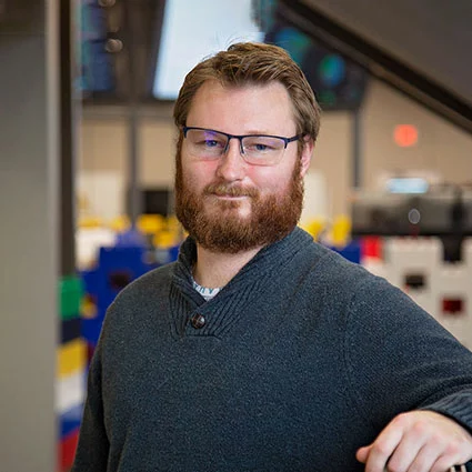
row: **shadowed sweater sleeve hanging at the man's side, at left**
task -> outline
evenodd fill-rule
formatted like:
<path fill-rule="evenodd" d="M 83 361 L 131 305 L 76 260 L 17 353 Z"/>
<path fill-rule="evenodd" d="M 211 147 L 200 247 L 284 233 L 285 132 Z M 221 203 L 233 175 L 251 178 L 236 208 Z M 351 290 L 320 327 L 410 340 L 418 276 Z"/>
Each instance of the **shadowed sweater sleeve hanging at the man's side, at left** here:
<path fill-rule="evenodd" d="M 71 472 L 106 472 L 109 441 L 103 421 L 100 343 L 89 369 L 88 392 Z"/>

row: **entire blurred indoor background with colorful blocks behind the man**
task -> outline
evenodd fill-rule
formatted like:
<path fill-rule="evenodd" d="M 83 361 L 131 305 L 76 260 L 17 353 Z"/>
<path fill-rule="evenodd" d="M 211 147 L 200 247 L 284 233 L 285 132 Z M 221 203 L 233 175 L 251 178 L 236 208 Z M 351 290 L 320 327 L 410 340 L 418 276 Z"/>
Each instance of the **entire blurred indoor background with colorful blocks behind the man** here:
<path fill-rule="evenodd" d="M 108 305 L 177 258 L 184 74 L 289 51 L 323 109 L 300 224 L 472 347 L 468 0 L 0 0 L 0 469 L 69 470 Z"/>

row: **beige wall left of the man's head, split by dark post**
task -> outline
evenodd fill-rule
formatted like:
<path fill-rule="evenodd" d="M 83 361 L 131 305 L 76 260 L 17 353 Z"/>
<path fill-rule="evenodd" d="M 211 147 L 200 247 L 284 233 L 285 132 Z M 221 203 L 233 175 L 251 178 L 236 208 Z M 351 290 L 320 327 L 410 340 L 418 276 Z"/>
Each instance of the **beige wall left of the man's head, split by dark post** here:
<path fill-rule="evenodd" d="M 124 212 L 130 142 L 127 125 L 127 118 L 114 114 L 82 120 L 78 172 L 82 214 L 109 220 Z M 141 118 L 138 141 L 140 184 L 171 188 L 174 129 L 170 116 Z"/>

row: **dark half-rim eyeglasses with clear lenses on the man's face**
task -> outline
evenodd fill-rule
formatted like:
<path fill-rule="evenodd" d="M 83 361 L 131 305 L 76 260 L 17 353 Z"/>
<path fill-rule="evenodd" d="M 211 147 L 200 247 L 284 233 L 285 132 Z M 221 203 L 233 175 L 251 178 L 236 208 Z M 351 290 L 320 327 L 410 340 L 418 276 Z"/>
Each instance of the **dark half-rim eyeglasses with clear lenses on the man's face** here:
<path fill-rule="evenodd" d="M 190 155 L 201 160 L 220 159 L 230 145 L 230 140 L 235 138 L 240 143 L 240 153 L 245 162 L 254 165 L 275 165 L 282 159 L 283 152 L 293 141 L 302 134 L 283 138 L 270 134 L 228 134 L 222 131 L 205 128 L 183 127 L 183 137 L 189 142 Z"/>

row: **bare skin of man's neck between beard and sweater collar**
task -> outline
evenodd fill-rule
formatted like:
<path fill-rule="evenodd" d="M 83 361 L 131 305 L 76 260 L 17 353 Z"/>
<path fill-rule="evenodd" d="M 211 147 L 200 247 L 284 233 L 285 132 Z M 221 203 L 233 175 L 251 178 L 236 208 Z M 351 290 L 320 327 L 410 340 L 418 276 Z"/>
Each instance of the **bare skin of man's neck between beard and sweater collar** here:
<path fill-rule="evenodd" d="M 198 244 L 193 278 L 197 283 L 209 289 L 224 287 L 261 248 L 237 254 L 227 254 L 209 251 Z"/>

